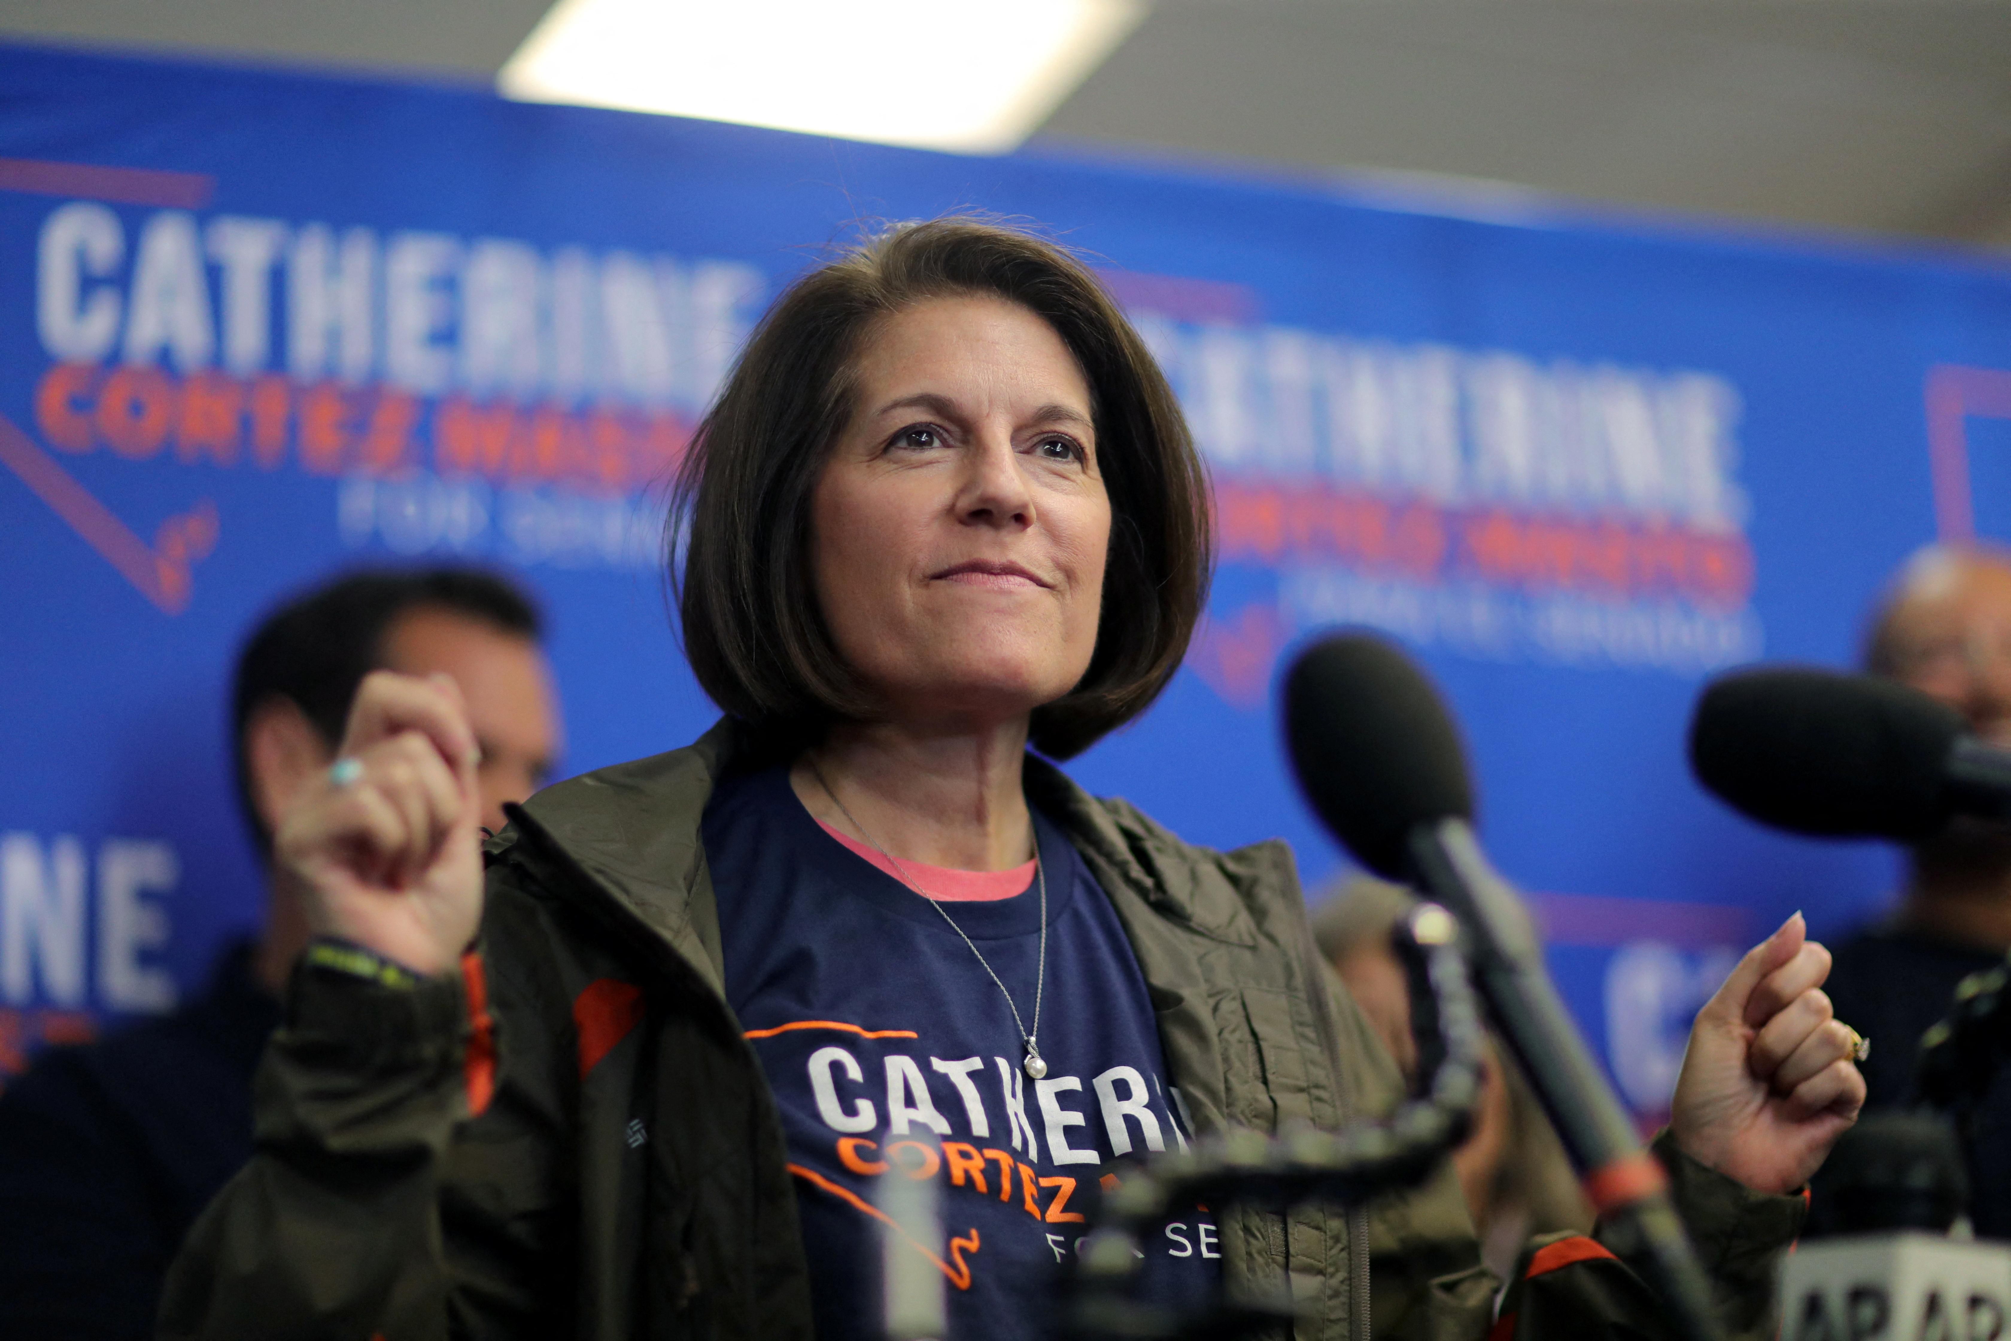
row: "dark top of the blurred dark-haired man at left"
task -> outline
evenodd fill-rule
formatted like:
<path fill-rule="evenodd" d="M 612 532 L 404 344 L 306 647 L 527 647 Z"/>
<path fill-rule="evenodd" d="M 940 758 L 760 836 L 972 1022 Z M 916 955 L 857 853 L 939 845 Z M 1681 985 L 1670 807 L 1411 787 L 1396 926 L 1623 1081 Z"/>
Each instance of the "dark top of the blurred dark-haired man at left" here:
<path fill-rule="evenodd" d="M 0 1096 L 0 1337 L 139 1341 L 189 1224 L 251 1158 L 251 1076 L 280 1003 L 233 945 L 203 995 Z"/>

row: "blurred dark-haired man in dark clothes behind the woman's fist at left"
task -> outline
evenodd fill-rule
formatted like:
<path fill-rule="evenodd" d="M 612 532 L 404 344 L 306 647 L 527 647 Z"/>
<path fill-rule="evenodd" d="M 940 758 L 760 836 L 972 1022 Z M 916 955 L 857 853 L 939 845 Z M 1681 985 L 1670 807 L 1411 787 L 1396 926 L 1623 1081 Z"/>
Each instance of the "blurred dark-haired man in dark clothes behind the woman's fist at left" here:
<path fill-rule="evenodd" d="M 273 611 L 237 657 L 233 760 L 267 873 L 265 923 L 199 997 L 90 1047 L 58 1047 L 0 1096 L 0 1337 L 151 1337 L 161 1275 L 251 1156 L 251 1074 L 308 941 L 271 879 L 296 790 L 334 762 L 372 669 L 450 676 L 481 744 L 485 824 L 551 772 L 559 716 L 531 601 L 473 569 L 356 573 Z"/>

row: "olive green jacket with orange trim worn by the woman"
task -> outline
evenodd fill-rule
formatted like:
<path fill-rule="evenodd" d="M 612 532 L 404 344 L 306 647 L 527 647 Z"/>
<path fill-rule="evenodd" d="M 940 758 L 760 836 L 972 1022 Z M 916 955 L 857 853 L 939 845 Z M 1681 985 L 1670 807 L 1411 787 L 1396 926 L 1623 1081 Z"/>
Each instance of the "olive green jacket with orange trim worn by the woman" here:
<path fill-rule="evenodd" d="M 257 1154 L 171 1269 L 163 1337 L 810 1333 L 782 1128 L 726 1005 L 700 844 L 738 740 L 720 724 L 533 796 L 487 846 L 459 979 L 296 973 Z M 1317 959 L 1283 842 L 1191 846 L 1034 758 L 1026 788 L 1116 907 L 1199 1132 L 1394 1106 L 1396 1066 Z M 1802 1200 L 1665 1162 L 1727 1321 L 1758 1335 Z M 1289 1289 L 1319 1341 L 1372 1319 L 1378 1337 L 1474 1341 L 1498 1293 L 1450 1166 L 1365 1212 L 1231 1212 L 1223 1259 L 1229 1289 Z M 1599 1251 L 1508 1307 L 1516 1335 L 1663 1335 Z"/>

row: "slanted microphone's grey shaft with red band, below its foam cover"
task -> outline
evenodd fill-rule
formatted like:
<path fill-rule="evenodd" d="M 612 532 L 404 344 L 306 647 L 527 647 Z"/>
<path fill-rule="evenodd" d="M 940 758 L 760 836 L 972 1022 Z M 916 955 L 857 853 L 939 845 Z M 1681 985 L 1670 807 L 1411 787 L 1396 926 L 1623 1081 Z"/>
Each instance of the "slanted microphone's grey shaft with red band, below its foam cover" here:
<path fill-rule="evenodd" d="M 1615 1247 L 1657 1287 L 1683 1335 L 1717 1341 L 1711 1285 L 1669 1202 L 1667 1174 L 1641 1148 L 1557 995 L 1522 901 L 1488 863 L 1466 820 L 1416 826 L 1410 858 L 1420 889 L 1460 919 L 1488 1013 L 1557 1126 L 1593 1208 L 1619 1230 Z"/>

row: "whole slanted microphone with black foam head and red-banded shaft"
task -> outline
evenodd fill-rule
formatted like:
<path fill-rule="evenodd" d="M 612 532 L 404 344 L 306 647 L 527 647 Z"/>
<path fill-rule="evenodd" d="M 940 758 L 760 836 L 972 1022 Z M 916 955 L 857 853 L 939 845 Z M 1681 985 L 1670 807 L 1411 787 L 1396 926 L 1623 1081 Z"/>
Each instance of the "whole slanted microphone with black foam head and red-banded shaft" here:
<path fill-rule="evenodd" d="M 1285 676 L 1285 738 L 1313 810 L 1361 865 L 1416 885 L 1458 917 L 1474 979 L 1508 1049 L 1627 1257 L 1689 1337 L 1717 1337 L 1711 1289 L 1536 947 L 1514 889 L 1474 838 L 1474 788 L 1452 716 L 1394 645 L 1325 637 Z M 1631 1242 L 1629 1242 L 1631 1238 Z"/>

